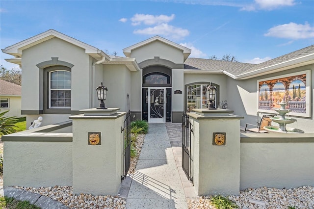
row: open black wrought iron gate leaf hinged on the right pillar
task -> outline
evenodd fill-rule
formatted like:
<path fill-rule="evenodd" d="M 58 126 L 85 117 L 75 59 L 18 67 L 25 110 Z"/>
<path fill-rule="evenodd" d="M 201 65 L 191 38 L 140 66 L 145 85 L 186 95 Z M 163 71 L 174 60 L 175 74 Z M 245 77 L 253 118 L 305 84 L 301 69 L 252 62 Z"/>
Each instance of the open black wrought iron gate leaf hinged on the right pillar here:
<path fill-rule="evenodd" d="M 182 121 L 182 168 L 187 179 L 193 183 L 194 129 L 186 113 L 183 113 Z"/>

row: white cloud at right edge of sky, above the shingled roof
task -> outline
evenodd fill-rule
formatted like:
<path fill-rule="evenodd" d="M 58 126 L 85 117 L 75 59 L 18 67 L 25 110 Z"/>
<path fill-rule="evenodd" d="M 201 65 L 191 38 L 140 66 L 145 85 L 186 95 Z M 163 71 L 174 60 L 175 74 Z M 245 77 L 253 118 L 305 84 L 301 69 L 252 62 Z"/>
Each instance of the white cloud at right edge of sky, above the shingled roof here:
<path fill-rule="evenodd" d="M 289 23 L 279 26 L 274 26 L 268 29 L 268 32 L 264 36 L 278 37 L 278 38 L 289 38 L 289 39 L 304 39 L 314 37 L 314 27 L 310 24 L 305 23 L 296 24 Z"/>

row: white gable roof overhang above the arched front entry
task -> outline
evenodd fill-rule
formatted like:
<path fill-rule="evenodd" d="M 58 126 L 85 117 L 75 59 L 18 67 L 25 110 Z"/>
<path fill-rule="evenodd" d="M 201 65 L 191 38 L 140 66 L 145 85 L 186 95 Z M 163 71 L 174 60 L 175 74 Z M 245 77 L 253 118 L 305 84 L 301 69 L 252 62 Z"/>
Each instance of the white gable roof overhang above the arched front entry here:
<path fill-rule="evenodd" d="M 167 39 L 165 39 L 165 38 L 162 38 L 162 37 L 160 37 L 160 36 L 154 36 L 154 37 L 149 38 L 149 39 L 147 39 L 147 40 L 145 40 L 145 41 L 142 41 L 142 42 L 139 42 L 139 43 L 137 43 L 137 44 L 134 44 L 134 45 L 132 45 L 132 46 L 130 46 L 130 47 L 127 47 L 127 48 L 123 49 L 123 53 L 124 53 L 127 57 L 131 57 L 131 51 L 132 51 L 132 50 L 135 50 L 135 49 L 138 49 L 138 48 L 140 48 L 140 47 L 143 47 L 143 46 L 145 46 L 145 45 L 147 45 L 147 44 L 150 44 L 150 43 L 152 43 L 152 42 L 154 42 L 154 41 L 160 41 L 160 42 L 165 43 L 165 44 L 167 44 L 167 45 L 169 45 L 169 46 L 171 46 L 171 47 L 174 47 L 174 48 L 176 48 L 176 49 L 178 49 L 178 50 L 181 50 L 181 51 L 183 52 L 184 61 L 185 61 L 186 58 L 191 54 L 191 50 L 190 50 L 190 49 L 188 49 L 188 48 L 186 48 L 186 47 L 183 47 L 183 46 L 180 45 L 180 44 L 176 44 L 176 43 L 174 43 L 174 42 L 172 42 L 172 41 L 169 41 L 169 40 L 167 40 Z"/>

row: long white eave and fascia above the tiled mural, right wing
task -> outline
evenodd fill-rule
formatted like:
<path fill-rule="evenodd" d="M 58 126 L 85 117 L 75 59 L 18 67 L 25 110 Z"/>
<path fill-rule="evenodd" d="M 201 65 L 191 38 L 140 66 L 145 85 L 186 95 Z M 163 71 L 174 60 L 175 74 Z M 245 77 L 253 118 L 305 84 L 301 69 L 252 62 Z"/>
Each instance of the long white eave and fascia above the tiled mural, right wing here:
<path fill-rule="evenodd" d="M 234 76 L 226 71 L 224 71 L 224 73 L 234 79 L 248 79 L 248 78 L 255 78 L 255 77 L 267 75 L 270 73 L 281 72 L 284 70 L 302 67 L 302 66 L 311 65 L 311 64 L 314 64 L 314 53 L 308 54 L 306 56 L 298 57 L 295 59 L 291 59 L 285 62 L 281 62 L 275 65 L 271 65 L 268 67 L 264 67 L 261 69 L 257 69 L 252 72 L 243 73 L 238 76 Z"/>

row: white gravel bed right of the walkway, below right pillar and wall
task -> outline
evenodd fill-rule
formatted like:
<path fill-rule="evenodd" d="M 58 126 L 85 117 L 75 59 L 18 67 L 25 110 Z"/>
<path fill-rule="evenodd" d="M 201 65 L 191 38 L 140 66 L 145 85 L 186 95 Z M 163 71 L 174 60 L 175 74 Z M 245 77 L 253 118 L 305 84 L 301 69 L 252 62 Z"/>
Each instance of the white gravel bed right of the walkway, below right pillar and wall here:
<path fill-rule="evenodd" d="M 314 209 L 314 187 L 302 186 L 292 189 L 249 188 L 239 196 L 228 196 L 240 209 Z M 188 200 L 189 209 L 215 209 L 210 197 Z"/>

